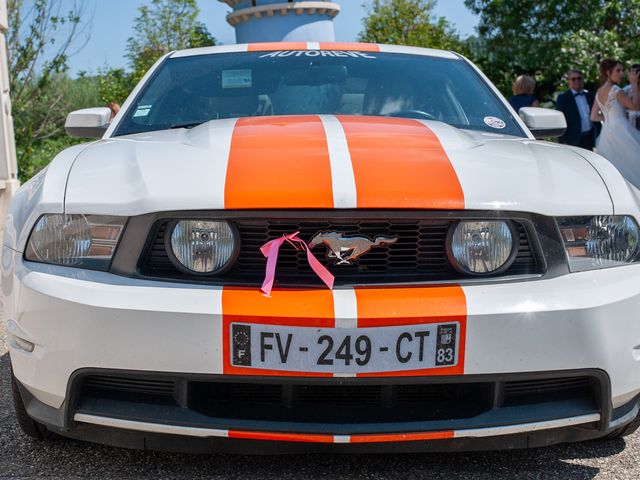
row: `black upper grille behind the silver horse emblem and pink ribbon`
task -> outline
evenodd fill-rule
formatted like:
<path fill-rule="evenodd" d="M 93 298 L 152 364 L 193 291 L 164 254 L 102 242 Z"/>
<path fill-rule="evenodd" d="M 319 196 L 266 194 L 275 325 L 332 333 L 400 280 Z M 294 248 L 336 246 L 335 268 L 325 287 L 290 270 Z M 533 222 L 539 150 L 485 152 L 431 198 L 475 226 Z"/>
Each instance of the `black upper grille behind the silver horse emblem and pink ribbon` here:
<path fill-rule="evenodd" d="M 231 268 L 222 275 L 190 276 L 178 270 L 167 255 L 165 236 L 171 220 L 156 222 L 147 248 L 138 264 L 145 277 L 231 285 L 260 285 L 264 279 L 266 259 L 260 247 L 283 234 L 300 232 L 309 241 L 317 233 L 335 231 L 346 236 L 398 237 L 393 245 L 370 250 L 352 265 L 333 265 L 326 257 L 326 247 L 318 245 L 313 252 L 335 275 L 336 285 L 392 284 L 425 281 L 456 281 L 468 278 L 457 272 L 446 254 L 447 232 L 456 219 L 372 220 L 372 219 L 237 219 L 234 221 L 240 237 L 240 252 Z M 500 276 L 542 273 L 527 229 L 515 222 L 518 232 L 518 252 L 515 261 Z M 276 284 L 280 286 L 321 285 L 313 273 L 304 251 L 284 244 L 277 264 Z"/>

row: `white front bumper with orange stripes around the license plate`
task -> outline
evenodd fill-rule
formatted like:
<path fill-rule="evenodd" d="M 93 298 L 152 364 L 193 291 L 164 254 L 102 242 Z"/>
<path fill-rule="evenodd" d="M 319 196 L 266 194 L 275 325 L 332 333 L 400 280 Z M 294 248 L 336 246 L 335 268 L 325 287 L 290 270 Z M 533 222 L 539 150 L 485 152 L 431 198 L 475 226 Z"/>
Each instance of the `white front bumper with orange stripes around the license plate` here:
<path fill-rule="evenodd" d="M 245 441 L 300 443 L 296 435 L 302 434 L 320 435 L 315 440 L 326 440 L 325 436 L 330 435 L 333 443 L 335 438 L 344 441 L 346 437 L 351 440 L 367 435 L 376 440 L 369 443 L 388 445 L 414 440 L 402 443 L 417 442 L 425 449 L 425 443 L 455 446 L 460 442 L 478 448 L 480 438 L 492 448 L 499 445 L 493 440 L 487 444 L 487 438 L 511 439 L 506 446 L 595 438 L 628 423 L 637 413 L 639 266 L 500 285 L 378 288 L 366 292 L 356 289 L 350 293 L 276 291 L 273 298 L 267 299 L 254 290 L 168 285 L 101 272 L 24 264 L 18 253 L 6 248 L 3 262 L 13 267 L 5 268 L 3 279 L 7 331 L 15 375 L 25 397 L 31 400 L 27 402 L 32 405 L 29 412 L 69 436 L 91 439 L 86 432 L 116 428 L 121 433 L 144 432 L 142 436 L 148 441 L 151 437 L 162 439 L 178 434 L 194 439 L 204 436 L 208 442 L 234 431 L 241 432 Z M 337 328 L 353 326 L 354 322 L 359 325 L 362 319 L 371 324 L 374 320 L 420 323 L 424 319 L 463 317 L 465 345 L 461 362 L 448 371 L 403 378 L 496 382 L 509 374 L 553 372 L 570 376 L 591 372 L 589 375 L 599 379 L 600 390 L 592 397 L 594 403 L 590 407 L 572 404 L 562 410 L 559 404 L 553 404 L 552 415 L 529 409 L 520 417 L 482 418 L 476 426 L 461 424 L 458 429 L 453 424 L 425 424 L 418 428 L 378 423 L 360 432 L 352 426 L 345 428 L 345 424 L 334 424 L 333 431 L 320 432 L 307 427 L 300 430 L 295 423 L 277 426 L 248 421 L 238 426 L 227 421 L 226 425 L 214 422 L 213 426 L 197 426 L 188 419 L 163 420 L 161 415 L 132 420 L 135 417 L 108 409 L 81 411 L 72 400 L 71 379 L 83 369 L 246 380 L 247 372 L 229 367 L 223 341 L 228 319 L 238 317 L 248 322 L 256 317 L 271 317 L 276 323 L 282 319 L 303 322 L 307 318 L 331 317 Z M 34 343 L 34 351 L 20 349 L 15 337 Z M 241 375 L 230 375 L 235 373 Z M 392 380 L 388 377 L 386 381 Z M 275 376 L 271 381 L 291 379 Z M 365 379 L 334 381 L 363 384 Z M 135 423 L 140 420 L 146 425 Z M 173 427 L 182 430 L 175 431 Z M 456 433 L 462 430 L 467 432 Z M 538 430 L 547 434 L 532 433 Z M 451 438 L 452 435 L 458 438 Z M 532 440 L 534 437 L 538 440 Z M 98 438 L 105 441 L 107 437 Z"/>

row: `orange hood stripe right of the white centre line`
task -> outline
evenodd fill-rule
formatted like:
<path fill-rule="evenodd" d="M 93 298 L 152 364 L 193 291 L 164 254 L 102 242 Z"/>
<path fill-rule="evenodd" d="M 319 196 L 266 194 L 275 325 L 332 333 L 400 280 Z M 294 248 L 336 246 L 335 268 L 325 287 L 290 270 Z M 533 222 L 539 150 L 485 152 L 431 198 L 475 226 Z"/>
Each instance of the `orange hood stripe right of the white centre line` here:
<path fill-rule="evenodd" d="M 438 137 L 417 120 L 338 117 L 353 163 L 358 208 L 464 209 Z"/>

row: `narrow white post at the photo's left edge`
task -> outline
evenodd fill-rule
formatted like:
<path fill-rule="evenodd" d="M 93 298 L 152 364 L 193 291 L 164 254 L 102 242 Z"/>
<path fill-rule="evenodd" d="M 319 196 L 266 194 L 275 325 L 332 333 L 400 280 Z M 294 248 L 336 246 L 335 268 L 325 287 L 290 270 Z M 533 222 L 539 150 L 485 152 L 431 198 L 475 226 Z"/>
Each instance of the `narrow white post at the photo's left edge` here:
<path fill-rule="evenodd" d="M 9 66 L 5 36 L 8 28 L 7 1 L 0 0 L 0 226 L 4 222 L 11 196 L 20 185 L 9 97 Z"/>

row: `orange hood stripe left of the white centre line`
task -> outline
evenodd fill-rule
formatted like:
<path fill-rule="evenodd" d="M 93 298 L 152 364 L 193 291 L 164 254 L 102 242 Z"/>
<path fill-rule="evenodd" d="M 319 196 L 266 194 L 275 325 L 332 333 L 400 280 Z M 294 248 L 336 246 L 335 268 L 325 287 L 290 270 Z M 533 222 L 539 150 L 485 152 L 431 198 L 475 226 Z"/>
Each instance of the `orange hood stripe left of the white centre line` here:
<path fill-rule="evenodd" d="M 333 208 L 320 118 L 239 119 L 231 139 L 225 208 Z"/>

